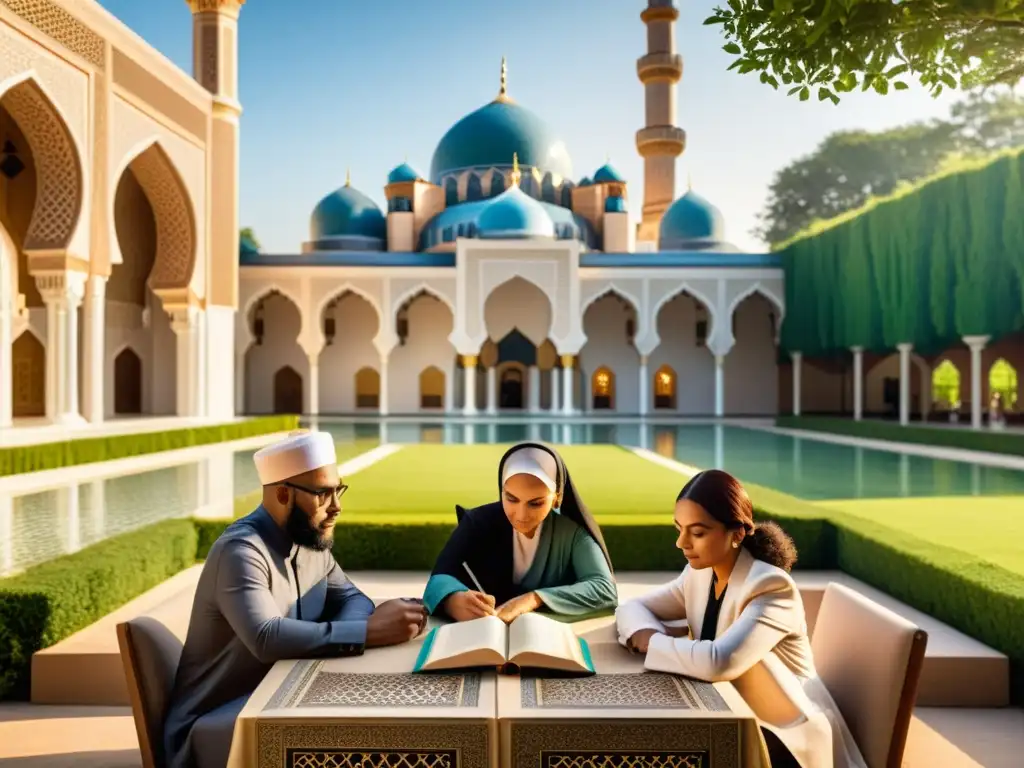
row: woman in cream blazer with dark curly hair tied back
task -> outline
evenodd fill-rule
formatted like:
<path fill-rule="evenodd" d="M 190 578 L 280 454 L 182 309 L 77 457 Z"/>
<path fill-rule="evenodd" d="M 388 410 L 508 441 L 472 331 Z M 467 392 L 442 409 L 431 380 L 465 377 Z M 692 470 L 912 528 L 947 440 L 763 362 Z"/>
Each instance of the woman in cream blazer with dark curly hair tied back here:
<path fill-rule="evenodd" d="M 754 522 L 732 475 L 693 476 L 676 499 L 683 572 L 615 612 L 618 640 L 644 667 L 708 682 L 731 681 L 761 724 L 772 768 L 863 768 L 839 708 L 817 677 L 793 540 Z M 665 622 L 686 620 L 685 634 Z"/>

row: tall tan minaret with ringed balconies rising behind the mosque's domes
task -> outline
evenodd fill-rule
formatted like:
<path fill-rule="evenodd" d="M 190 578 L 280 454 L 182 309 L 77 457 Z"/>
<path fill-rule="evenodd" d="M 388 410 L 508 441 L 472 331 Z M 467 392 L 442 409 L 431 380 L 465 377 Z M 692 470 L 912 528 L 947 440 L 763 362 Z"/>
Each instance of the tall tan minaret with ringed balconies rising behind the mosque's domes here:
<path fill-rule="evenodd" d="M 686 133 L 676 127 L 676 83 L 683 76 L 683 57 L 676 53 L 673 0 L 647 0 L 640 18 L 647 25 L 647 54 L 637 59 L 644 86 L 647 124 L 637 131 L 637 152 L 644 160 L 643 218 L 638 242 L 657 242 L 662 215 L 676 197 L 676 158 L 686 146 Z"/>

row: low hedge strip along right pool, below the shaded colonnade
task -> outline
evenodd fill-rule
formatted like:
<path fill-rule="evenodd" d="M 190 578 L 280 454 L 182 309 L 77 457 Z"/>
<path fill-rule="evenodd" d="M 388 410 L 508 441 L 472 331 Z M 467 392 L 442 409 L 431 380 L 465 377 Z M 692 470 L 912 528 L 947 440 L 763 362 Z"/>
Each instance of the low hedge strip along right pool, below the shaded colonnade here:
<path fill-rule="evenodd" d="M 872 440 L 913 442 L 940 447 L 963 449 L 964 451 L 985 451 L 990 454 L 1024 456 L 1024 435 L 1014 432 L 993 432 L 991 430 L 951 429 L 948 427 L 901 426 L 893 422 L 868 419 L 853 421 L 819 416 L 780 416 L 775 426 L 783 429 L 805 429 L 809 432 L 830 432 L 833 434 L 864 437 Z"/>

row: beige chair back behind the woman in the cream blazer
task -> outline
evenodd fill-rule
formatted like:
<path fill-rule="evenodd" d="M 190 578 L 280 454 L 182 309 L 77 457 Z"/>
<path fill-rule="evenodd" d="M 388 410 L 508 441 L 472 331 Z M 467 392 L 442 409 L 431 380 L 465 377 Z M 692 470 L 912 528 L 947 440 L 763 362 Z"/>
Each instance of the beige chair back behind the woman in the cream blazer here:
<path fill-rule="evenodd" d="M 868 768 L 900 768 L 928 635 L 855 590 L 825 588 L 814 666 Z"/>

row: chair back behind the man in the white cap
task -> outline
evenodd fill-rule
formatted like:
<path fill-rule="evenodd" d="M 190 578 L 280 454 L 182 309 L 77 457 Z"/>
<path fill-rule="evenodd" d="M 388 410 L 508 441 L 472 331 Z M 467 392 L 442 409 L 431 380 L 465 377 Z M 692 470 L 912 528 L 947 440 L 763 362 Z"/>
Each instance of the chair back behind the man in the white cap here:
<path fill-rule="evenodd" d="M 142 768 L 164 768 L 164 719 L 181 641 L 153 616 L 137 616 L 117 629 Z"/>

